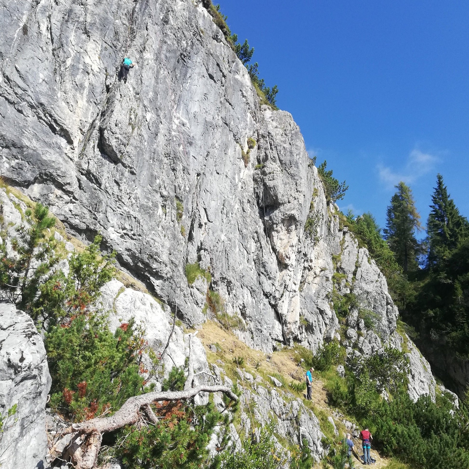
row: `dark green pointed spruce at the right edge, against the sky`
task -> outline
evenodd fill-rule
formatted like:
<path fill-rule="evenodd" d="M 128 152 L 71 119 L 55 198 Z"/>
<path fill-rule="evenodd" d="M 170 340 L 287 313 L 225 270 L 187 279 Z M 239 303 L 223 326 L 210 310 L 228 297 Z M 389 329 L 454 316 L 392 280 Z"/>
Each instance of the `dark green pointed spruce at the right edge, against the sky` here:
<path fill-rule="evenodd" d="M 428 263 L 441 268 L 451 252 L 468 236 L 468 220 L 460 215 L 454 200 L 449 198 L 441 174 L 437 175 L 437 187 L 434 188 L 431 200 L 433 204 L 430 205 L 428 217 Z"/>

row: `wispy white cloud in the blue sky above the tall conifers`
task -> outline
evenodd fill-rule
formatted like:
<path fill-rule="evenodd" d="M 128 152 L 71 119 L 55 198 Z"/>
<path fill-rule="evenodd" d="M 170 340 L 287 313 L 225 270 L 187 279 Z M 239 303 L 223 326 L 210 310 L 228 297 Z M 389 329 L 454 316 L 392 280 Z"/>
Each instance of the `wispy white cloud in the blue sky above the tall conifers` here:
<path fill-rule="evenodd" d="M 409 153 L 407 164 L 401 172 L 394 172 L 389 166 L 378 165 L 379 179 L 385 183 L 388 189 L 393 188 L 401 181 L 409 184 L 429 173 L 438 160 L 430 153 L 414 149 Z"/>

